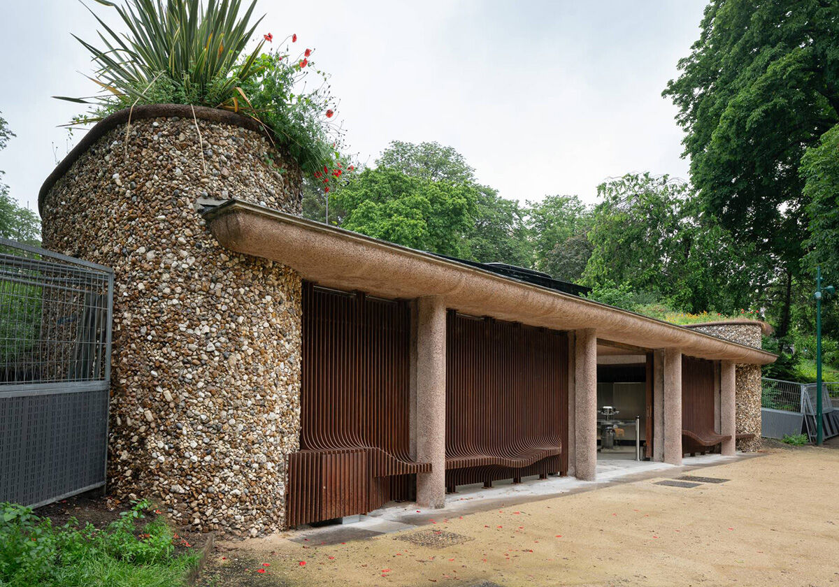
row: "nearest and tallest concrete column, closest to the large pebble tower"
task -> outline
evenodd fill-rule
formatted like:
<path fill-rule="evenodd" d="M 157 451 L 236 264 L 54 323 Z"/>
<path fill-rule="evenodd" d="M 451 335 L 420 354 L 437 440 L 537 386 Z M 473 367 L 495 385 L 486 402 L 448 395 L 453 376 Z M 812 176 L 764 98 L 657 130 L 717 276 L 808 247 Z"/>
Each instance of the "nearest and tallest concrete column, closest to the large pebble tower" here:
<path fill-rule="evenodd" d="M 446 303 L 440 296 L 417 300 L 417 460 L 431 463 L 417 475 L 417 503 L 446 502 Z"/>

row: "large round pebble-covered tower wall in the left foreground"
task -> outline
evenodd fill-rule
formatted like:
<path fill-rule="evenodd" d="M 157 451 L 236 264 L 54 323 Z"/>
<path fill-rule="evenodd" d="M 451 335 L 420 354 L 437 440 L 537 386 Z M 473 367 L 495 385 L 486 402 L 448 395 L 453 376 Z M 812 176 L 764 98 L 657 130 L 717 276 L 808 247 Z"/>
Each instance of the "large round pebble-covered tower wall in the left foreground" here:
<path fill-rule="evenodd" d="M 114 269 L 109 491 L 255 536 L 284 524 L 299 445 L 300 278 L 223 249 L 196 200 L 300 214 L 301 176 L 260 132 L 198 113 L 201 140 L 192 116 L 135 112 L 88 145 L 44 185 L 44 246 Z"/>

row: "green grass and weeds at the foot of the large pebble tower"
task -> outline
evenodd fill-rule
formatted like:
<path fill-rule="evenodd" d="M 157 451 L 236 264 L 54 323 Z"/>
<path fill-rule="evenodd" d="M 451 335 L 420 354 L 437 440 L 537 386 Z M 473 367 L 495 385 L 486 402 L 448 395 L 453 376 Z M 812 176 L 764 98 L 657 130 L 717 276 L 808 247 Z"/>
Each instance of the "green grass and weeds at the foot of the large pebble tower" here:
<path fill-rule="evenodd" d="M 198 562 L 175 553 L 163 517 L 149 522 L 140 501 L 102 530 L 75 518 L 53 527 L 28 507 L 0 504 L 0 587 L 179 587 Z"/>

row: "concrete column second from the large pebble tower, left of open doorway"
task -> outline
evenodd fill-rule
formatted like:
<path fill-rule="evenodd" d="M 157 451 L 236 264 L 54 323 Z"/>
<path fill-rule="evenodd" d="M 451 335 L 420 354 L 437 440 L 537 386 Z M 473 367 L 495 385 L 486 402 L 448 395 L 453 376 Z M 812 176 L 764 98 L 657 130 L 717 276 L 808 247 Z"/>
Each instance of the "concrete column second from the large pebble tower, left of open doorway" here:
<path fill-rule="evenodd" d="M 575 333 L 575 475 L 594 481 L 597 468 L 597 335 L 593 328 Z"/>

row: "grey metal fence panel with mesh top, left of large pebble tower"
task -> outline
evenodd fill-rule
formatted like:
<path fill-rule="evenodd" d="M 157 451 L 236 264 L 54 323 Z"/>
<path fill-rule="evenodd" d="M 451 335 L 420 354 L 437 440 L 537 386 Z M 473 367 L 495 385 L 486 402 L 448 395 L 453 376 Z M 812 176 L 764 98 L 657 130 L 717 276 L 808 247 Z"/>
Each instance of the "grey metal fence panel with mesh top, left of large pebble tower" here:
<path fill-rule="evenodd" d="M 0 238 L 0 501 L 105 485 L 113 272 Z"/>

